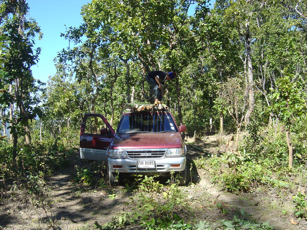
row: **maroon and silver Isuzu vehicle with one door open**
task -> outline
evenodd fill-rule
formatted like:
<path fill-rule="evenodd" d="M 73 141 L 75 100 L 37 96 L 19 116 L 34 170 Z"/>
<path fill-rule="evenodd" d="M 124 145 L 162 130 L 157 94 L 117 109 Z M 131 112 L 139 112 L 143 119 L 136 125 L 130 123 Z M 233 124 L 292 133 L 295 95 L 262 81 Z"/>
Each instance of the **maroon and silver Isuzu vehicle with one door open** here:
<path fill-rule="evenodd" d="M 173 114 L 166 110 L 142 110 L 123 113 L 117 131 L 101 114 L 87 113 L 81 125 L 80 157 L 106 161 L 109 182 L 119 185 L 123 174 L 179 174 L 186 183 L 186 146 Z"/>

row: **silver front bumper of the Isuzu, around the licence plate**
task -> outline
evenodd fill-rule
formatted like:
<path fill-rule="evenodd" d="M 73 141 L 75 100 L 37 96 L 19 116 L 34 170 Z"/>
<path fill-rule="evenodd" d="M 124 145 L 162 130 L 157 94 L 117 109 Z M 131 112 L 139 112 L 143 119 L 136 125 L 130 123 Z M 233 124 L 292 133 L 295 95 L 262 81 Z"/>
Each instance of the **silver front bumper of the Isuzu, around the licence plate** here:
<path fill-rule="evenodd" d="M 108 157 L 109 171 L 119 173 L 140 173 L 170 175 L 172 171 L 183 171 L 185 169 L 186 157 L 165 157 L 161 159 L 150 159 L 155 162 L 154 168 L 140 168 L 138 161 L 148 161 L 148 159 L 127 159 Z"/>

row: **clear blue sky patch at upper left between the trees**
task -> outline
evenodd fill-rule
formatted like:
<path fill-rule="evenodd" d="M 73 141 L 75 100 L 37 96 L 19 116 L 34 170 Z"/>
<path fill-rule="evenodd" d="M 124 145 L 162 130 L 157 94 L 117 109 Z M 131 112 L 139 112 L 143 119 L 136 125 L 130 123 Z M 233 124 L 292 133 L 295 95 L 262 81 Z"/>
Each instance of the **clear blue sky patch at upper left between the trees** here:
<path fill-rule="evenodd" d="M 37 65 L 31 67 L 33 77 L 47 82 L 56 73 L 53 59 L 57 52 L 68 46 L 68 41 L 60 37 L 66 27 L 78 27 L 82 23 L 81 7 L 91 0 L 27 0 L 29 17 L 34 18 L 44 34 L 35 41 L 35 48 L 41 47 Z M 190 10 L 190 9 L 189 9 Z M 193 11 L 193 9 L 192 9 Z"/>

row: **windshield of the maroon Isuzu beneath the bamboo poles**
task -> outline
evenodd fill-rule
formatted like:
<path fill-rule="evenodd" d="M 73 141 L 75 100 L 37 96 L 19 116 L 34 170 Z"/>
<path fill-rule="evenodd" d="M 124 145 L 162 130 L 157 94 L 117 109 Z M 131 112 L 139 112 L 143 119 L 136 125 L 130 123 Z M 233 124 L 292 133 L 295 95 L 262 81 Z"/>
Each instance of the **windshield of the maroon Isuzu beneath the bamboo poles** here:
<path fill-rule="evenodd" d="M 178 132 L 172 116 L 164 111 L 129 113 L 122 117 L 117 132 Z"/>

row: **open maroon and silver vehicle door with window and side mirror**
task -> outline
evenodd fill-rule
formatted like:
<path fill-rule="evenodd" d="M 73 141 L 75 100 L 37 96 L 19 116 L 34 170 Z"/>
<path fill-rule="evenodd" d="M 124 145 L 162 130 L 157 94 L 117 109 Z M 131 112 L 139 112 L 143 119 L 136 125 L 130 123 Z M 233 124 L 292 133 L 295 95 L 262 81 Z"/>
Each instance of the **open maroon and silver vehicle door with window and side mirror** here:
<path fill-rule="evenodd" d="M 107 148 L 114 135 L 114 129 L 103 115 L 86 113 L 80 132 L 81 159 L 107 161 Z"/>

